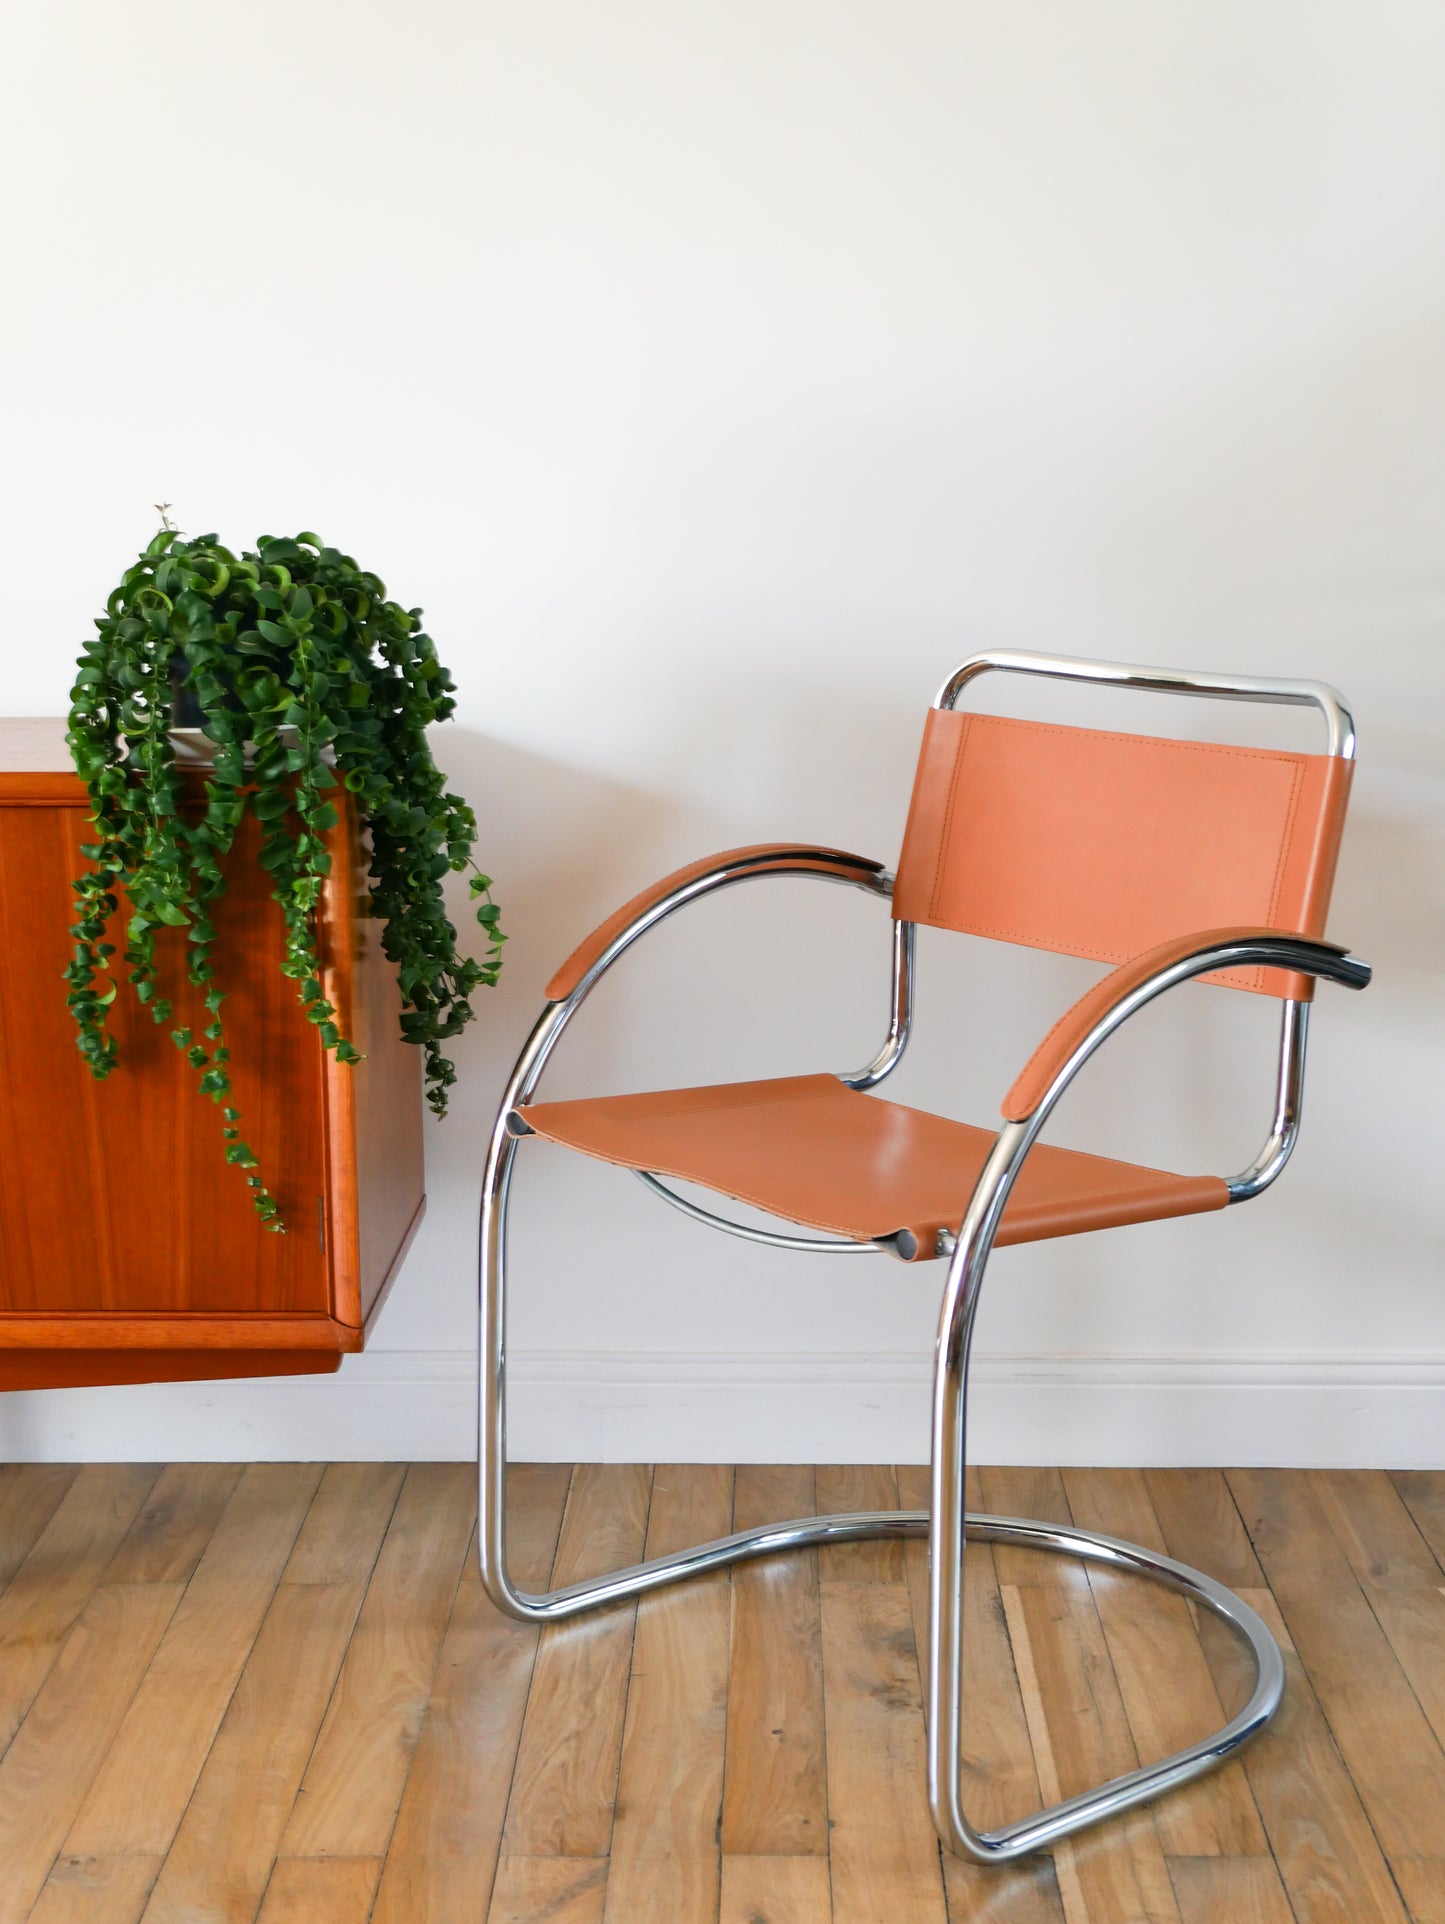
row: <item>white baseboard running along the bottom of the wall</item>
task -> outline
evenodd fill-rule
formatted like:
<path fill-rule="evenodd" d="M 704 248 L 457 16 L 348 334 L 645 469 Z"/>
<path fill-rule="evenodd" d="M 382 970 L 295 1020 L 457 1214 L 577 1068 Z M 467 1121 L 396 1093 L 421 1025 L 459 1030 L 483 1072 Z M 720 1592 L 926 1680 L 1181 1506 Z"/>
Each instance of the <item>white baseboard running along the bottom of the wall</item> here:
<path fill-rule="evenodd" d="M 600 1462 L 924 1462 L 924 1354 L 514 1353 L 510 1453 Z M 464 1460 L 473 1360 L 369 1351 L 337 1376 L 0 1395 L 0 1458 Z M 979 1354 L 970 1456 L 1445 1468 L 1445 1356 Z"/>

